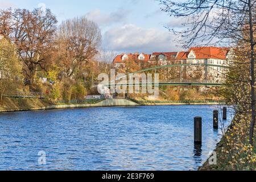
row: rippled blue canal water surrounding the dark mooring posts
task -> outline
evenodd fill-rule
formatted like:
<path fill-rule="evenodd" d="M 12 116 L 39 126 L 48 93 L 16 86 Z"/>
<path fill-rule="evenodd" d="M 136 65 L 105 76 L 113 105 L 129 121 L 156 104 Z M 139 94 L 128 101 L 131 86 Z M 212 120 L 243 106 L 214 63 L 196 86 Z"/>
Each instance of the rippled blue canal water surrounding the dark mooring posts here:
<path fill-rule="evenodd" d="M 0 113 L 0 169 L 196 170 L 221 138 L 221 130 L 212 126 L 214 109 L 220 107 L 97 107 Z M 233 117 L 228 111 L 226 126 Z M 193 142 L 196 116 L 203 117 L 202 146 Z"/>

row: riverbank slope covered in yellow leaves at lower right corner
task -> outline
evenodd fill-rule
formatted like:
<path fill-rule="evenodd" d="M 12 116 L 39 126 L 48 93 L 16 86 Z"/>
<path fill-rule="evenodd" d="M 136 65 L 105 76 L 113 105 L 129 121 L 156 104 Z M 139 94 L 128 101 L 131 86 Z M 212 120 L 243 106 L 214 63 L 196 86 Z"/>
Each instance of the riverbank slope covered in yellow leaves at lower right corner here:
<path fill-rule="evenodd" d="M 249 115 L 239 115 L 233 119 L 232 125 L 221 142 L 217 144 L 217 165 L 209 162 L 199 168 L 200 171 L 255 171 L 256 141 L 254 147 L 249 144 Z"/>

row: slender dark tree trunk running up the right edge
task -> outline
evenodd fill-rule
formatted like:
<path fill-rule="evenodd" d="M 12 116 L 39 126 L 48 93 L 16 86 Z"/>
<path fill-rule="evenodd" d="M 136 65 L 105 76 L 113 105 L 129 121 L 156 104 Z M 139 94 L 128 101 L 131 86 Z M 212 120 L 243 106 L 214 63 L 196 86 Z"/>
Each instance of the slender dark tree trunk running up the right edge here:
<path fill-rule="evenodd" d="M 251 0 L 249 4 L 249 23 L 250 23 L 250 46 L 251 46 L 251 125 L 250 125 L 250 144 L 253 145 L 254 127 L 255 127 L 255 75 L 254 75 L 254 36 L 253 36 L 253 15 L 251 9 Z"/>

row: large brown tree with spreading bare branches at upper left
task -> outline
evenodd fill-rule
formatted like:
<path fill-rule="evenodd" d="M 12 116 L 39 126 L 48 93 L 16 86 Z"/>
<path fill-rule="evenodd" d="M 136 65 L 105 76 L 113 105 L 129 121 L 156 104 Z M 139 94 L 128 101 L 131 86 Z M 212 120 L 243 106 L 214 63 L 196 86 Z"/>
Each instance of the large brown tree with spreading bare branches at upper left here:
<path fill-rule="evenodd" d="M 2 10 L 1 34 L 16 45 L 27 83 L 34 82 L 35 74 L 46 68 L 47 55 L 53 46 L 56 17 L 49 9 Z"/>

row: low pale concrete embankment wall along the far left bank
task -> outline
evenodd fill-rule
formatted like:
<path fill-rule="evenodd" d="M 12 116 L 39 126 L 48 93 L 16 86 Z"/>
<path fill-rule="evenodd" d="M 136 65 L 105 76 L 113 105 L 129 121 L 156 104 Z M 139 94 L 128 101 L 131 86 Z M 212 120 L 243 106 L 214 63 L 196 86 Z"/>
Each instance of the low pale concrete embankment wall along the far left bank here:
<path fill-rule="evenodd" d="M 27 109 L 2 109 L 0 112 L 10 111 L 26 111 L 26 110 L 47 110 L 47 109 L 71 109 L 71 108 L 83 108 L 83 107 L 110 107 L 110 106 L 138 106 L 137 103 L 125 100 L 125 99 L 114 99 L 104 100 L 97 104 L 77 104 L 77 105 L 51 105 L 45 107 L 32 107 Z"/>

